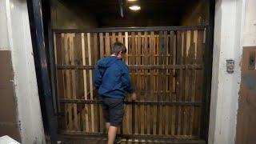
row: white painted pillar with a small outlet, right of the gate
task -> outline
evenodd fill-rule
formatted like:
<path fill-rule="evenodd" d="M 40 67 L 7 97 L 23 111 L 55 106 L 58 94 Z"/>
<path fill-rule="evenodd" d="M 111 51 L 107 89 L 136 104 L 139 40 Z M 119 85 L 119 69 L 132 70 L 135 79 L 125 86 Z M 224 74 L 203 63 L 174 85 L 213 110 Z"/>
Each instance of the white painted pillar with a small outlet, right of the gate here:
<path fill-rule="evenodd" d="M 245 1 L 217 0 L 215 5 L 210 144 L 235 141 Z M 234 60 L 233 74 L 226 72 L 226 59 Z"/>

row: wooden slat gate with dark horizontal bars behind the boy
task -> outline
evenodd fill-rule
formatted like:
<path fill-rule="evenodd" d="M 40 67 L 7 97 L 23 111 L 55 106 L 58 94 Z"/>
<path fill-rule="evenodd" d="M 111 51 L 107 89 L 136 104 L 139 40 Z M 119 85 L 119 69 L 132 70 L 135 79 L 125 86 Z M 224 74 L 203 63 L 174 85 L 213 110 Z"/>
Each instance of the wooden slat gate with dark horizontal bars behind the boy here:
<path fill-rule="evenodd" d="M 94 66 L 114 42 L 128 49 L 138 101 L 126 98 L 123 138 L 200 139 L 206 27 L 54 30 L 59 134 L 105 135 Z"/>

